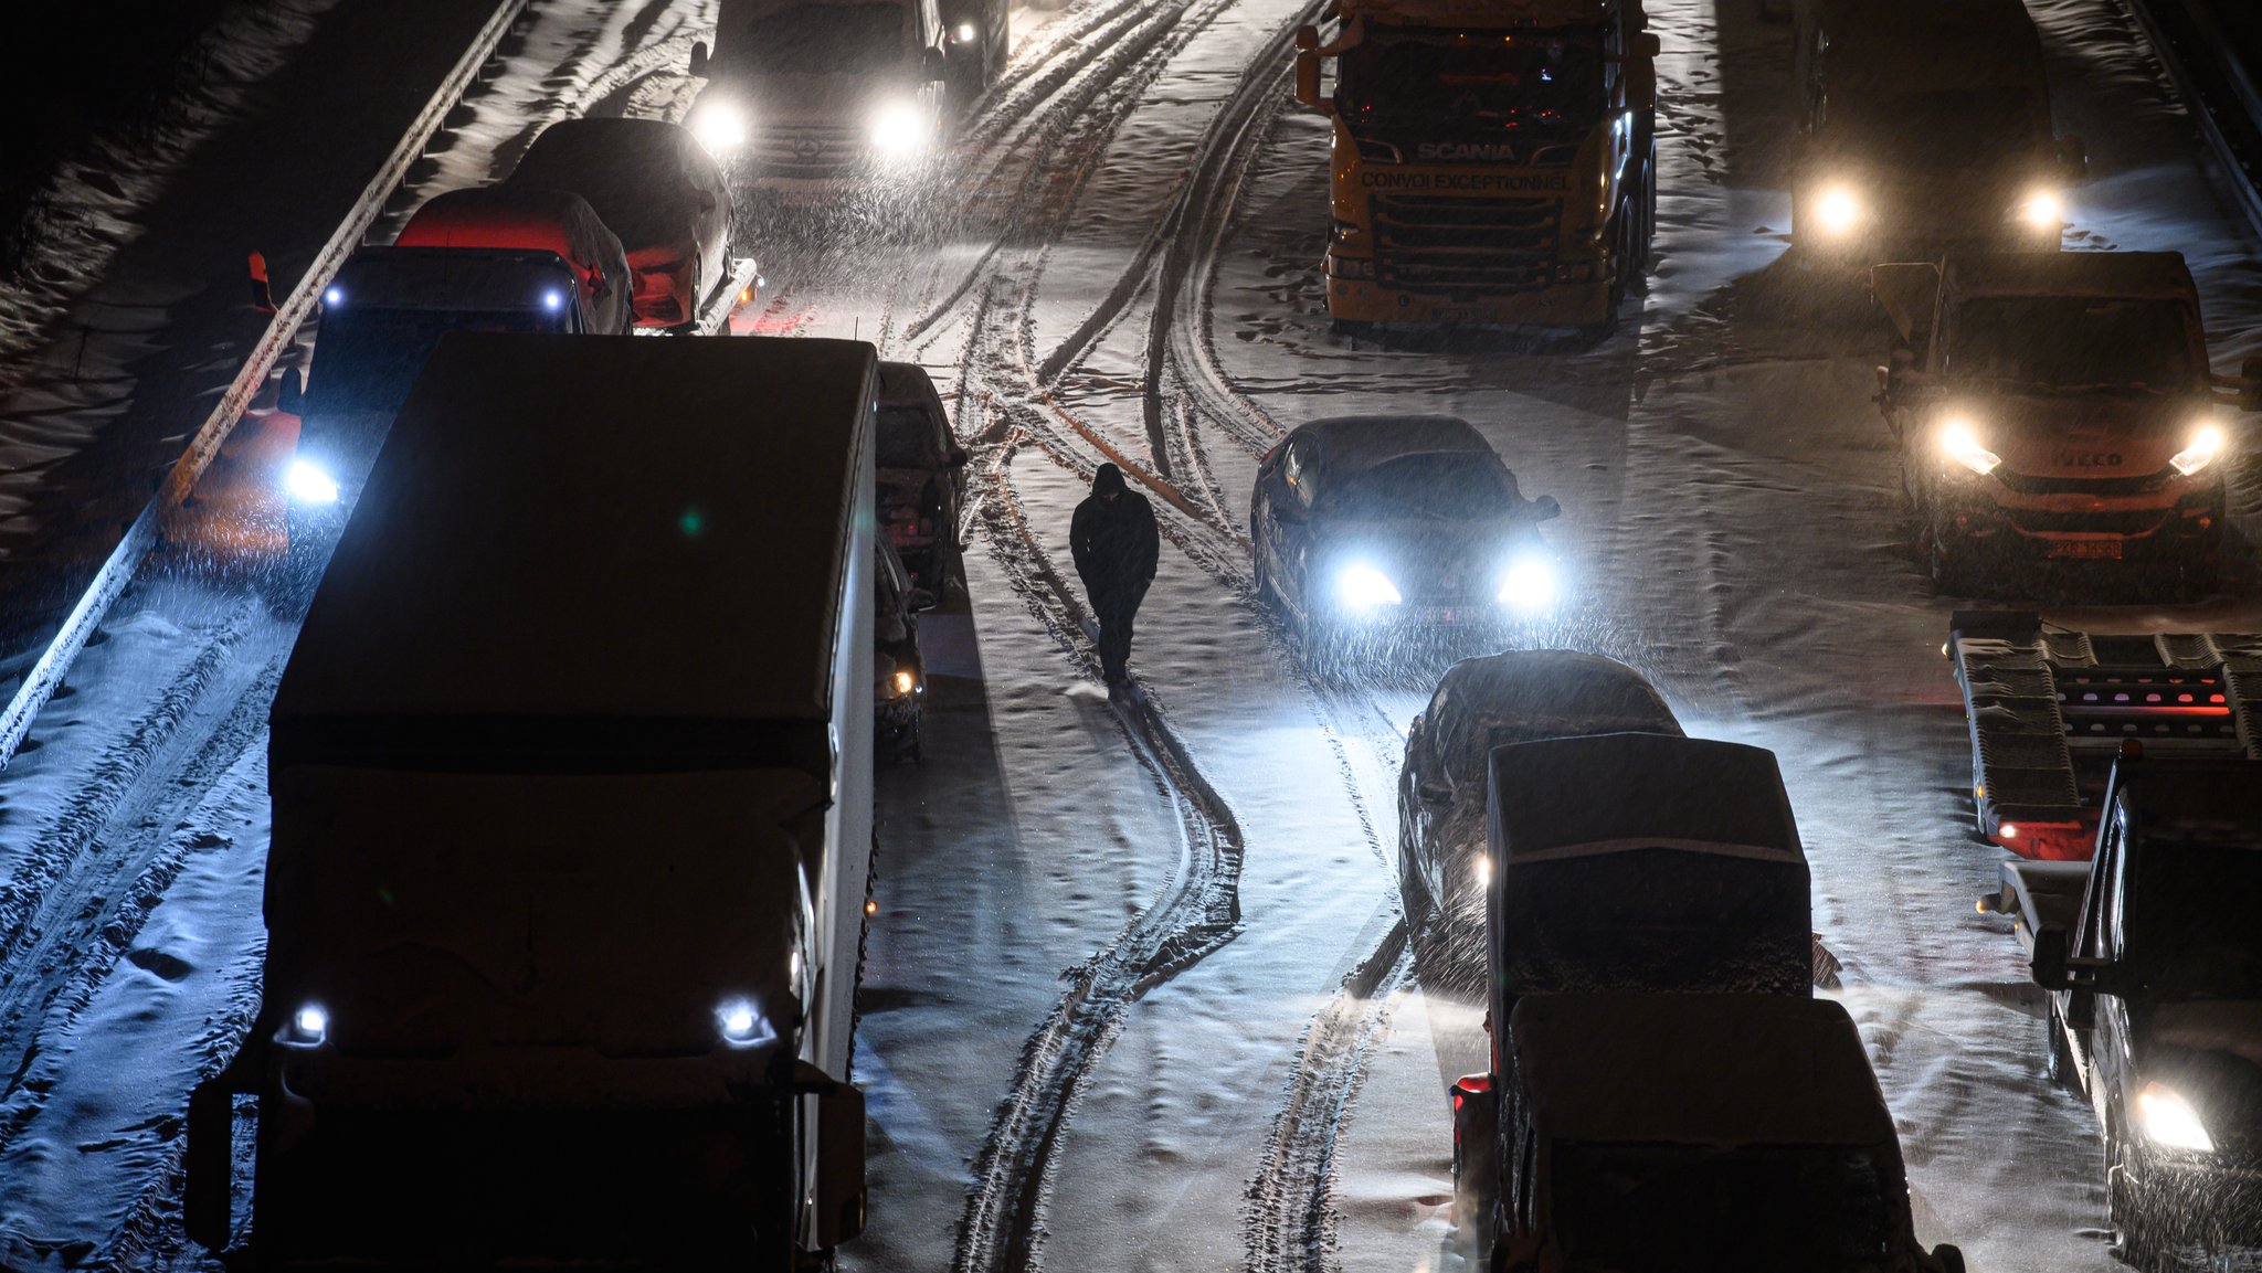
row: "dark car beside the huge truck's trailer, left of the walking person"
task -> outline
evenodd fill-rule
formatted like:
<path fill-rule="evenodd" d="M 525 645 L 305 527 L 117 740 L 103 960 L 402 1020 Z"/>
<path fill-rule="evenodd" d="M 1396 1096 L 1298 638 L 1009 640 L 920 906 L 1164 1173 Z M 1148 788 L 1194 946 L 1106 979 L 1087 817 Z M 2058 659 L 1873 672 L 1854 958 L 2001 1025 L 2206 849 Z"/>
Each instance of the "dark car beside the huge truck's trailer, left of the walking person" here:
<path fill-rule="evenodd" d="M 880 529 L 903 554 L 912 581 L 941 597 L 966 590 L 959 511 L 966 506 L 966 448 L 934 380 L 916 362 L 880 364 Z"/>

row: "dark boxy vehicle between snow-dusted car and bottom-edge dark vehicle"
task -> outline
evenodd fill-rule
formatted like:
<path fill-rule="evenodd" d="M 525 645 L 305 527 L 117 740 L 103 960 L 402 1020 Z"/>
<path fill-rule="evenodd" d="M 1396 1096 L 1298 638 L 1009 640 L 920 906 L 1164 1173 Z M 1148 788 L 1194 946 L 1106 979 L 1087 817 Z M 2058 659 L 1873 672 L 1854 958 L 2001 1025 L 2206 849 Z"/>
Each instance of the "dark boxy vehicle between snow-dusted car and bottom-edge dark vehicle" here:
<path fill-rule="evenodd" d="M 1807 859 L 1776 755 L 1663 733 L 1491 753 L 1484 981 L 1491 1072 L 1454 1083 L 1454 1194 L 1491 1246 L 1502 1192 L 1504 1022 L 1529 995 L 1814 986 Z"/>

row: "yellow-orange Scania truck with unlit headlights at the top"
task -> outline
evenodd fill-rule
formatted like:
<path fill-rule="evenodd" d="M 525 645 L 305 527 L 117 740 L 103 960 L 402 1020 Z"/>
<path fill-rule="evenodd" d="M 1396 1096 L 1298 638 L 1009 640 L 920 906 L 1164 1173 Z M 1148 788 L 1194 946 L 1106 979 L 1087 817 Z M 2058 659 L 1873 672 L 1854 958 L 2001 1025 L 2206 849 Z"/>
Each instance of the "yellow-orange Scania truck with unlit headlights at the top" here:
<path fill-rule="evenodd" d="M 1656 226 L 1642 0 L 1332 0 L 1321 23 L 1296 99 L 1335 118 L 1337 326 L 1611 330 Z"/>

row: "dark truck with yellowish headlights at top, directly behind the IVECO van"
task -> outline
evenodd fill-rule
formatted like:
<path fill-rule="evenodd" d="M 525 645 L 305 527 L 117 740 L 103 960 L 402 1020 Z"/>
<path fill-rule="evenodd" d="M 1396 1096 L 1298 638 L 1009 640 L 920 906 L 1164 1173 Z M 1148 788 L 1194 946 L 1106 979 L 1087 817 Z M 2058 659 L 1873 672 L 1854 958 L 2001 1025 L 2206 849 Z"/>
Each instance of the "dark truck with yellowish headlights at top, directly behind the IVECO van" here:
<path fill-rule="evenodd" d="M 2058 249 L 2086 158 L 2052 131 L 2022 0 L 1801 0 L 1796 23 L 1801 253 Z"/>

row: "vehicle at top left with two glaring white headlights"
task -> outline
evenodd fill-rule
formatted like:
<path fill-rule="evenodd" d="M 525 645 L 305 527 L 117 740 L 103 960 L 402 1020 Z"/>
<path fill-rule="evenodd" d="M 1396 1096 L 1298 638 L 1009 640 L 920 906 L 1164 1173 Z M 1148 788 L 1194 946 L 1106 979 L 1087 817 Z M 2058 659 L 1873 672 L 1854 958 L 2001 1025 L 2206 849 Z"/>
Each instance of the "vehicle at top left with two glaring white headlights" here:
<path fill-rule="evenodd" d="M 724 0 L 688 124 L 751 206 L 914 206 L 948 142 L 948 43 L 936 0 Z"/>

